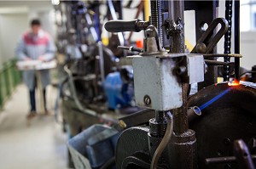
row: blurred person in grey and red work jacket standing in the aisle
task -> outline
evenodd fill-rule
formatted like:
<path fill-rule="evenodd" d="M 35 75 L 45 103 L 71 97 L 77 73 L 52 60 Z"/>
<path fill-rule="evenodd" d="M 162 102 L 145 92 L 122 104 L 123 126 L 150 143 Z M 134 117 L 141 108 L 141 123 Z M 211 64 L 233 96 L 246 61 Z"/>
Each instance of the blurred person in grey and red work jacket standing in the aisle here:
<path fill-rule="evenodd" d="M 41 29 L 40 20 L 31 21 L 31 30 L 26 31 L 18 43 L 16 48 L 16 56 L 19 60 L 40 60 L 42 62 L 49 61 L 55 57 L 55 43 L 49 36 L 49 33 Z M 31 118 L 36 115 L 36 98 L 35 88 L 36 84 L 36 72 L 35 70 L 26 70 L 22 72 L 23 82 L 29 89 L 31 110 L 27 115 L 27 118 Z M 46 109 L 46 86 L 50 83 L 49 70 L 40 70 L 41 82 L 43 86 L 44 95 L 44 110 Z"/>

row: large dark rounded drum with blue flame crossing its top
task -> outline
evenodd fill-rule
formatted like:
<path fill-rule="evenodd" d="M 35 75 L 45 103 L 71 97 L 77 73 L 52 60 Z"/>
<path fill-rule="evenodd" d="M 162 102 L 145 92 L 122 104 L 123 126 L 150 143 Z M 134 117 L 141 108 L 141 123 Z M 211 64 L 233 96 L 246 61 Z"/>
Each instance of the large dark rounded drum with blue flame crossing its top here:
<path fill-rule="evenodd" d="M 248 156 L 255 165 L 255 101 L 253 82 L 237 86 L 218 83 L 189 97 L 189 127 L 195 131 L 199 168 L 251 168 L 239 166 L 248 161 Z M 235 144 L 234 149 L 233 142 L 240 139 L 247 148 L 246 144 Z"/>

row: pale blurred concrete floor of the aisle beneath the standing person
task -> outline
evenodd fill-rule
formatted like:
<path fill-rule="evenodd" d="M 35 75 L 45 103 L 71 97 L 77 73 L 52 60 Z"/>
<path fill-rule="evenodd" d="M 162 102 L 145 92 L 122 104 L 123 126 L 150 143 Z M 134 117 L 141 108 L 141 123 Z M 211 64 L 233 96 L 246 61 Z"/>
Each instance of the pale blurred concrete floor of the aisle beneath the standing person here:
<path fill-rule="evenodd" d="M 48 108 L 53 112 L 56 90 L 48 87 Z M 20 85 L 0 112 L 1 169 L 67 168 L 67 136 L 53 115 L 38 115 L 27 126 L 28 91 Z"/>

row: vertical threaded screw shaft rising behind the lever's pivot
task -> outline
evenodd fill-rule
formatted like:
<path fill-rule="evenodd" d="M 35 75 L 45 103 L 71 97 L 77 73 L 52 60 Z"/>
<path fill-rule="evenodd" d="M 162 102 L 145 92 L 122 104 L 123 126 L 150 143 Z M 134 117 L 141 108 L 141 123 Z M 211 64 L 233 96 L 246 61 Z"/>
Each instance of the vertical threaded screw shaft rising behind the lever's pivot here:
<path fill-rule="evenodd" d="M 154 25 L 158 31 L 160 44 L 163 44 L 163 31 L 162 31 L 162 1 L 150 0 L 151 24 Z"/>

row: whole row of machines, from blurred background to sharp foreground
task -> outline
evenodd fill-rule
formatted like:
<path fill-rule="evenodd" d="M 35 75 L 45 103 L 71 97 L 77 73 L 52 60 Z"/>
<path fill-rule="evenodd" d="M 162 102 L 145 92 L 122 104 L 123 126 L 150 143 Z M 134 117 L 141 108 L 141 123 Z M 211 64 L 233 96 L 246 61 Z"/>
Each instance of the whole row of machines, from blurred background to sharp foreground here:
<path fill-rule="evenodd" d="M 152 0 L 149 21 L 122 20 L 121 1 L 55 7 L 66 56 L 60 98 L 75 168 L 255 168 L 255 70 L 241 72 L 240 2 L 225 1 L 225 18 L 217 18 L 218 6 Z M 195 11 L 190 52 L 186 10 Z M 113 33 L 108 47 L 105 19 Z M 143 48 L 124 31 L 144 31 Z M 217 54 L 222 37 L 224 54 Z"/>

